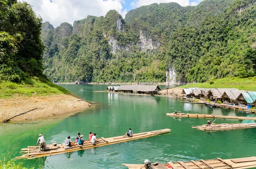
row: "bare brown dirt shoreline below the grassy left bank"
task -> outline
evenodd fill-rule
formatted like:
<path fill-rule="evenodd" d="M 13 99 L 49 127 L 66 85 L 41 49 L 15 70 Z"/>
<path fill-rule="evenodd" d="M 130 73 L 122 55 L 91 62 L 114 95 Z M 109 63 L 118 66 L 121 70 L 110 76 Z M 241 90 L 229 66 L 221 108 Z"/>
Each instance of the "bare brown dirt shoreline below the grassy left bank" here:
<path fill-rule="evenodd" d="M 56 118 L 63 115 L 70 116 L 91 106 L 86 100 L 64 94 L 0 99 L 0 105 L 0 121 L 33 108 L 38 109 L 14 117 L 10 121 Z"/>

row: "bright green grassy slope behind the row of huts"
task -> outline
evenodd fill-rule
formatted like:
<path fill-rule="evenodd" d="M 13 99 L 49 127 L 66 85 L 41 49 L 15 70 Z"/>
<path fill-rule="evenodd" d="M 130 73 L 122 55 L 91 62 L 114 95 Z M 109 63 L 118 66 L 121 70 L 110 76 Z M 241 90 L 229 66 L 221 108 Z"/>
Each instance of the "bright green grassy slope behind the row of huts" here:
<path fill-rule="evenodd" d="M 239 90 L 256 91 L 256 76 L 255 77 L 225 77 L 222 79 L 215 79 L 213 84 L 206 83 L 192 83 L 182 88 L 199 87 L 199 88 L 237 88 Z"/>

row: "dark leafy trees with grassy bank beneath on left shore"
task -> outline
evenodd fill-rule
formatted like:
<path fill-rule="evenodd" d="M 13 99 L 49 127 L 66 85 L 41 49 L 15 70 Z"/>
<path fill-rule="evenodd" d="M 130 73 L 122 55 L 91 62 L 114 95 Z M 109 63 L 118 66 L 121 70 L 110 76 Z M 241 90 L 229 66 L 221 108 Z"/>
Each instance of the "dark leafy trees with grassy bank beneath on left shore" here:
<path fill-rule="evenodd" d="M 28 3 L 0 0 L 0 98 L 68 93 L 43 73 L 41 30 Z"/>

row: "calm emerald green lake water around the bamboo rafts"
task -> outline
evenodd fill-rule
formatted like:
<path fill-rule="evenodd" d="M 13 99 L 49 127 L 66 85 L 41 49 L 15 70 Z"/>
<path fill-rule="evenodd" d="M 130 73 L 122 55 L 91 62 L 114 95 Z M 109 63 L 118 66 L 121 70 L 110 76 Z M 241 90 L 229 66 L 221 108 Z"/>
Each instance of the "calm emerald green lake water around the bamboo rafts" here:
<path fill-rule="evenodd" d="M 61 86 L 93 105 L 65 119 L 0 124 L 0 155 L 9 152 L 11 158 L 18 156 L 21 148 L 36 144 L 40 133 L 44 135 L 46 143 L 63 143 L 68 135 L 75 140 L 78 132 L 85 139 L 88 139 L 90 131 L 96 132 L 97 137 L 107 138 L 124 135 L 130 127 L 134 133 L 166 128 L 171 129 L 171 132 L 125 143 L 20 161 L 24 162 L 24 166 L 45 169 L 125 169 L 122 163 L 138 164 L 145 159 L 166 163 L 256 155 L 256 128 L 202 132 L 192 129 L 191 126 L 205 124 L 208 119 L 166 116 L 166 113 L 175 110 L 184 113 L 248 116 L 245 112 L 181 103 L 180 100 L 169 97 L 93 92 L 105 90 L 108 85 Z M 84 92 L 79 92 L 81 88 Z M 217 119 L 215 123 L 254 121 Z"/>

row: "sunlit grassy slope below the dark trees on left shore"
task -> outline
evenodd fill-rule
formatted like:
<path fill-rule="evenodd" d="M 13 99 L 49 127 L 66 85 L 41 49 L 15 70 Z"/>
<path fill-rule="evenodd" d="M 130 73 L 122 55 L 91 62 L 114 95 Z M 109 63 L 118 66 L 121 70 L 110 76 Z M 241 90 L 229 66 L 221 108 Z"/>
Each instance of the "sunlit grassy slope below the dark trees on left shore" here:
<path fill-rule="evenodd" d="M 36 93 L 36 94 L 35 94 Z M 70 94 L 61 86 L 57 86 L 44 78 L 33 77 L 26 79 L 20 84 L 2 81 L 0 82 L 0 98 L 14 98 L 17 96 L 46 96 Z"/>

